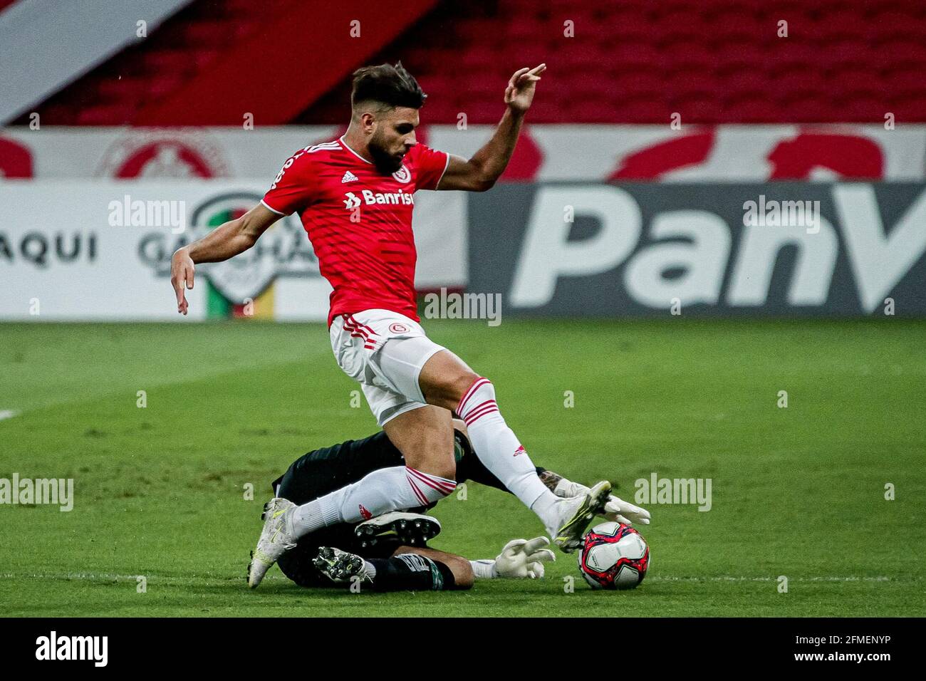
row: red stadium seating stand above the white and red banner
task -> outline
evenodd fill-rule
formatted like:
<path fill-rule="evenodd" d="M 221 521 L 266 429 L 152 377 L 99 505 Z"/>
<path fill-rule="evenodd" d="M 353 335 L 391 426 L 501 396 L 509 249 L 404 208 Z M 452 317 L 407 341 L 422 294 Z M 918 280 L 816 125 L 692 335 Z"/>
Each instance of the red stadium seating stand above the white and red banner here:
<path fill-rule="evenodd" d="M 403 6 L 403 19 L 377 33 L 380 44 L 361 41 L 362 55 L 313 60 L 280 40 L 279 52 L 252 51 L 257 66 L 241 66 L 248 37 L 274 30 L 269 22 L 307 26 L 332 13 L 346 21 L 320 5 L 197 0 L 38 110 L 59 125 L 238 124 L 240 112 L 222 110 L 224 95 L 255 88 L 257 66 L 301 54 L 297 77 L 275 80 L 265 97 L 285 106 L 265 107 L 262 123 L 341 122 L 348 64 L 399 58 L 432 94 L 432 123 L 456 122 L 460 111 L 470 123 L 494 122 L 499 82 L 541 61 L 550 69 L 532 109 L 538 123 L 661 122 L 676 111 L 711 124 L 879 122 L 888 111 L 898 122 L 926 120 L 926 4 L 917 0 L 422 1 Z M 382 23 L 389 13 L 379 11 Z"/>

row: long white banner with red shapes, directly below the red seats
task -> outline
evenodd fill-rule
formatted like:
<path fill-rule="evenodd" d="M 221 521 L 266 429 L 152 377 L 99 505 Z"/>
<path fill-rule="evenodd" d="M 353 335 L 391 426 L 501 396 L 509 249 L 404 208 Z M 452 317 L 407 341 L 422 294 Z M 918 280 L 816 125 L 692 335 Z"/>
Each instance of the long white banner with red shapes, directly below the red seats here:
<path fill-rule="evenodd" d="M 426 117 L 426 110 L 423 113 Z M 529 115 L 530 120 L 530 115 Z M 299 148 L 337 126 L 6 128 L 6 178 L 242 178 L 269 185 Z M 494 126 L 422 126 L 419 139 L 471 156 Z M 926 179 L 926 126 L 526 125 L 504 180 L 766 182 Z"/>

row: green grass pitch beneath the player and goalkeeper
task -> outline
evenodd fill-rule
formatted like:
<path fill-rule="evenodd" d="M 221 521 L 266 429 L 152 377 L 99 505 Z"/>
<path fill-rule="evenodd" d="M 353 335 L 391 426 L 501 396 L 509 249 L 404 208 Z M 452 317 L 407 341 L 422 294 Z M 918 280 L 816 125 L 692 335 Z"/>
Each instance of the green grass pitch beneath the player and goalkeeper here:
<path fill-rule="evenodd" d="M 3 324 L 0 410 L 19 413 L 0 421 L 0 477 L 75 481 L 73 511 L 0 506 L 3 614 L 926 614 L 926 323 L 425 327 L 493 379 L 538 464 L 607 477 L 629 500 L 654 472 L 710 478 L 711 510 L 649 505 L 653 564 L 632 592 L 592 591 L 562 553 L 544 580 L 467 592 L 307 590 L 277 568 L 250 591 L 269 481 L 310 448 L 376 430 L 324 326 Z M 432 545 L 471 559 L 543 533 L 476 484 L 436 515 Z"/>

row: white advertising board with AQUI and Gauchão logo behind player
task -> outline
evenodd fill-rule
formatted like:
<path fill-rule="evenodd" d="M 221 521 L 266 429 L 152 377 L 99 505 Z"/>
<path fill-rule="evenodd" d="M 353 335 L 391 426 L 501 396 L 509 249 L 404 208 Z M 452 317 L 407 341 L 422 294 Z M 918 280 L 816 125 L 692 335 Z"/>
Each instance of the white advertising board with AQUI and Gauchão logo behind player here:
<path fill-rule="evenodd" d="M 252 208 L 264 189 L 229 180 L 2 183 L 0 319 L 181 321 L 169 282 L 171 254 Z M 416 284 L 464 284 L 463 196 L 418 198 Z M 288 216 L 244 254 L 198 266 L 185 319 L 320 321 L 330 293 L 301 222 Z"/>

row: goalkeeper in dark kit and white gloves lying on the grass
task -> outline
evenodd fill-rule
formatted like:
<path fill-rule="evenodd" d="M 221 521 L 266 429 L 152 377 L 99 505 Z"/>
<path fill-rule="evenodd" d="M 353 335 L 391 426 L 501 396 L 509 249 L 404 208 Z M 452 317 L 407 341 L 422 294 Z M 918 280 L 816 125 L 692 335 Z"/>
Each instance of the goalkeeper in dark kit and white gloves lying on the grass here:
<path fill-rule="evenodd" d="M 454 431 L 457 482 L 471 480 L 505 490 L 473 453 L 465 424 L 454 420 Z M 273 495 L 303 504 L 355 483 L 371 471 L 403 463 L 401 452 L 380 432 L 300 457 L 273 482 Z M 537 474 L 559 497 L 587 491 L 552 471 L 538 468 Z M 466 589 L 477 578 L 543 577 L 544 562 L 556 558 L 545 548 L 550 543 L 546 537 L 512 540 L 494 561 L 469 561 L 429 549 L 427 541 L 437 536 L 441 524 L 422 511 L 433 506 L 394 511 L 357 524 L 323 527 L 301 537 L 294 549 L 283 553 L 280 568 L 301 586 L 349 586 L 359 579 L 361 588 L 377 591 Z M 268 512 L 275 512 L 271 504 L 265 506 Z M 620 523 L 649 523 L 647 511 L 617 497 L 608 498 L 604 514 Z"/>

